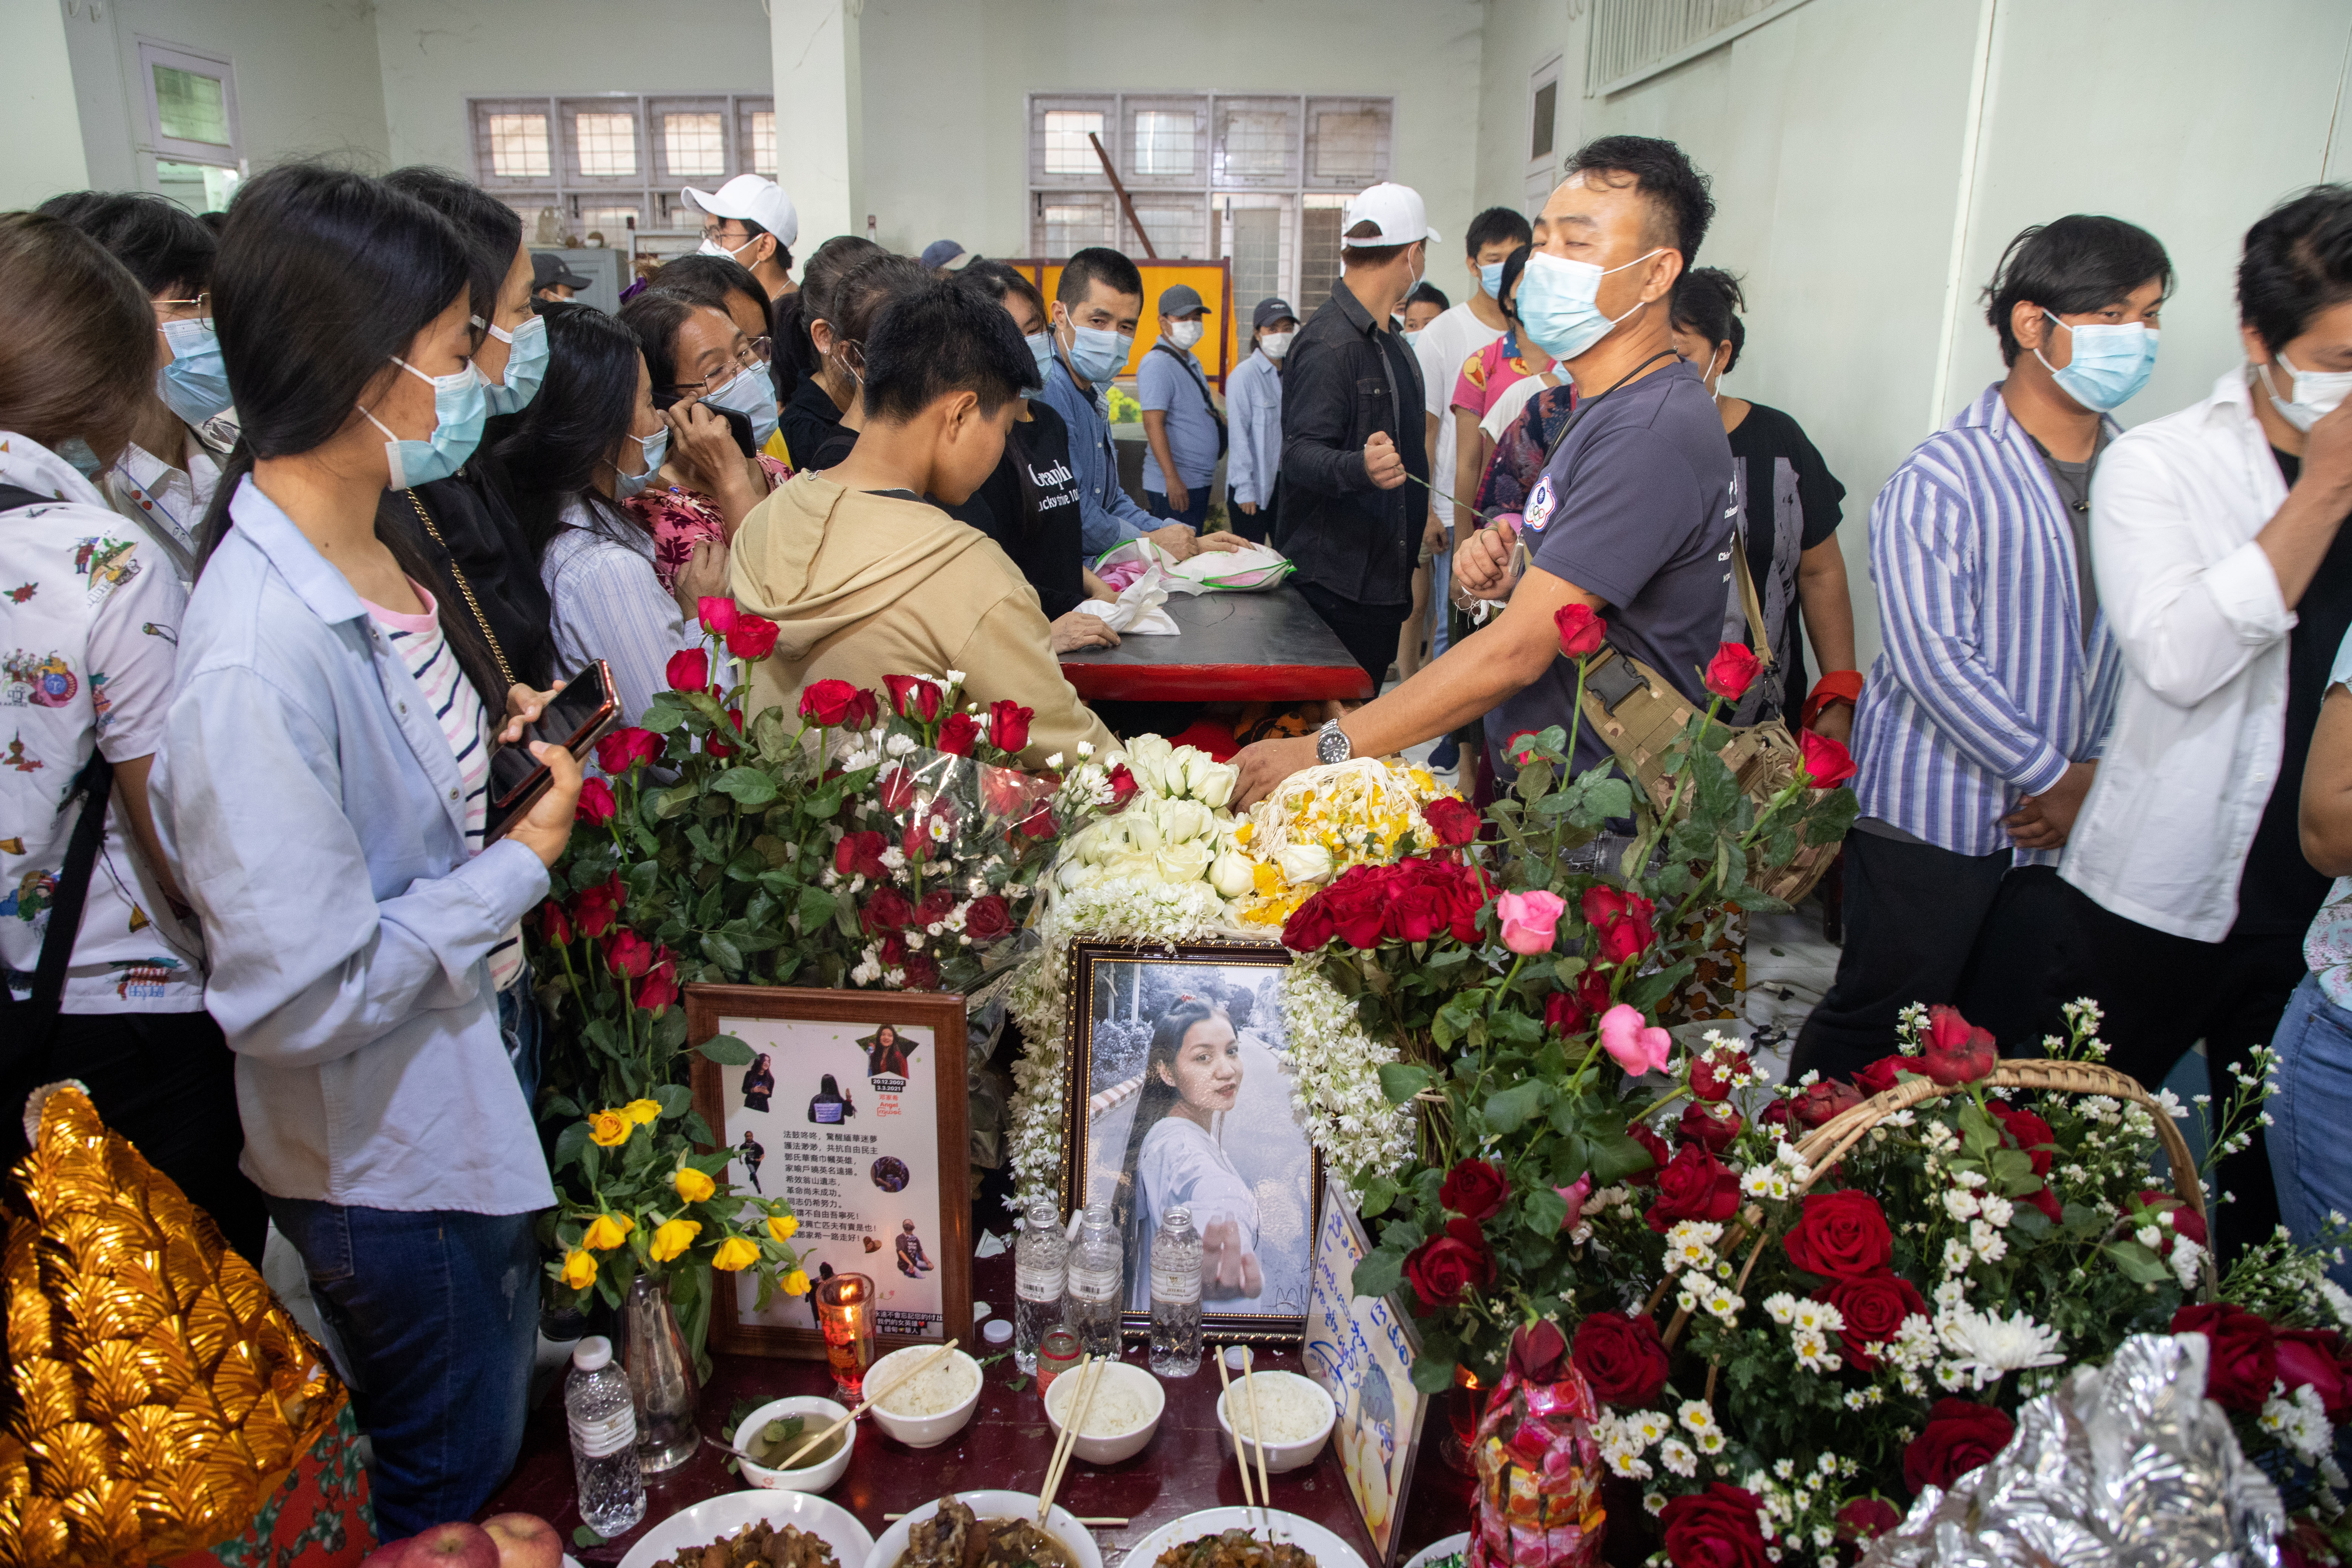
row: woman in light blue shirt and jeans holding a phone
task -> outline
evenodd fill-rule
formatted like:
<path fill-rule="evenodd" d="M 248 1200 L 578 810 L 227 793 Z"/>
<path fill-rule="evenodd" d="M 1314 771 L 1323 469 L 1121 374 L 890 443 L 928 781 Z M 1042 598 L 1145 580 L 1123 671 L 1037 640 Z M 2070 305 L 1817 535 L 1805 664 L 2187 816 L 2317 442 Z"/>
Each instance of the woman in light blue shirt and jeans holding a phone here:
<path fill-rule="evenodd" d="M 386 1537 L 473 1514 L 522 1443 L 555 1201 L 492 950 L 548 891 L 579 764 L 492 844 L 494 719 L 376 538 L 480 433 L 466 247 L 381 181 L 282 165 L 212 277 L 242 437 L 205 527 L 151 797 L 238 1053 L 245 1171 L 358 1373 Z"/>

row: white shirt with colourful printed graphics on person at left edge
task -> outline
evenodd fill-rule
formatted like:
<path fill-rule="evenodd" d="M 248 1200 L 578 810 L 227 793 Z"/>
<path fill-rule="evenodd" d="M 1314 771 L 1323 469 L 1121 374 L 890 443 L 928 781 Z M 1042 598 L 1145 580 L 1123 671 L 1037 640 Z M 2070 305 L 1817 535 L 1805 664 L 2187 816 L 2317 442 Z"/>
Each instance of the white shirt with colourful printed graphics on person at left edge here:
<path fill-rule="evenodd" d="M 162 743 L 188 597 L 162 550 L 56 454 L 0 430 L 0 484 L 56 496 L 0 512 L 0 969 L 24 997 L 80 816 L 66 797 L 94 745 L 120 764 Z M 64 1009 L 202 1006 L 202 940 L 108 811 Z"/>

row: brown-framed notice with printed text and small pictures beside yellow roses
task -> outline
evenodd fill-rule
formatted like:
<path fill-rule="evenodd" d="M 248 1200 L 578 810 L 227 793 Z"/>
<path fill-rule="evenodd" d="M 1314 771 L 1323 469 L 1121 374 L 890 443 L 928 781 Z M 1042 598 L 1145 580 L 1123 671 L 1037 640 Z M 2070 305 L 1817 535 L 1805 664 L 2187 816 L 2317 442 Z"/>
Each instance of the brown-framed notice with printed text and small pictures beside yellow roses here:
<path fill-rule="evenodd" d="M 936 992 L 689 985 L 694 1110 L 734 1159 L 727 1180 L 793 1204 L 809 1281 L 866 1274 L 880 1349 L 971 1333 L 971 1166 L 964 1131 L 964 999 Z M 760 1307 L 748 1274 L 720 1276 L 710 1347 L 823 1356 L 809 1295 Z"/>

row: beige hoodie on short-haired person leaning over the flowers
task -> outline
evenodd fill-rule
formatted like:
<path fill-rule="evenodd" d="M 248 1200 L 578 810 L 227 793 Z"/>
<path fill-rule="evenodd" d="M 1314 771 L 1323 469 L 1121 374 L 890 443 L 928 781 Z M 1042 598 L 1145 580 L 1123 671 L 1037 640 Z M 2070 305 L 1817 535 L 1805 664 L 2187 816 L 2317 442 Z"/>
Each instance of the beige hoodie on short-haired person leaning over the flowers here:
<path fill-rule="evenodd" d="M 924 501 L 795 475 L 736 529 L 736 604 L 781 625 L 750 672 L 750 712 L 800 705 L 811 682 L 875 696 L 884 675 L 964 672 L 964 701 L 1033 708 L 1028 766 L 1117 741 L 1061 675 L 1037 590 L 997 541 Z"/>

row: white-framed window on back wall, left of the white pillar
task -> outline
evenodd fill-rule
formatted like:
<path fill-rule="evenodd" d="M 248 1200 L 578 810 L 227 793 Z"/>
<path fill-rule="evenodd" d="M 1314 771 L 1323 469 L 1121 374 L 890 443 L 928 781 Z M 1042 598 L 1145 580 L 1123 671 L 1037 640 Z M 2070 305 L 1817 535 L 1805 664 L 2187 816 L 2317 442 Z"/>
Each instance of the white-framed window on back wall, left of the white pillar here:
<path fill-rule="evenodd" d="M 684 186 L 736 174 L 776 176 L 776 99 L 760 94 L 557 94 L 468 99 L 473 176 L 522 214 L 529 244 L 630 228 L 668 240 L 642 249 L 694 249 L 703 214 Z"/>

